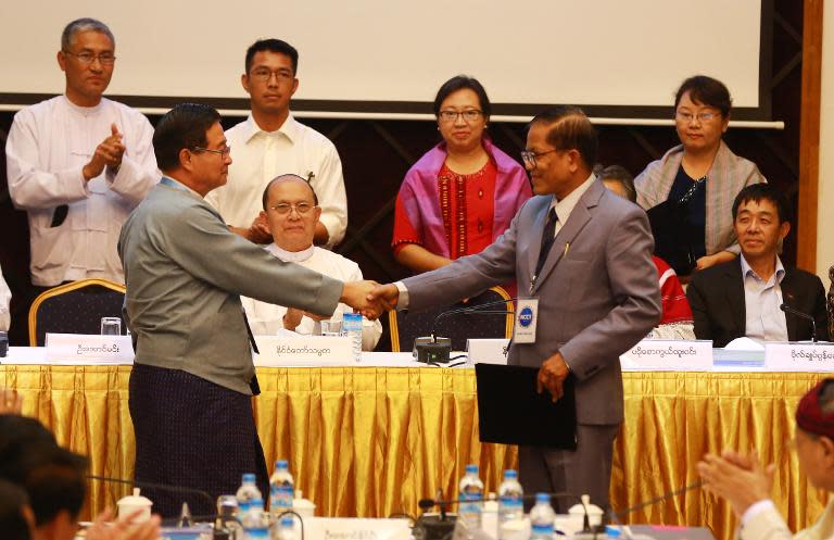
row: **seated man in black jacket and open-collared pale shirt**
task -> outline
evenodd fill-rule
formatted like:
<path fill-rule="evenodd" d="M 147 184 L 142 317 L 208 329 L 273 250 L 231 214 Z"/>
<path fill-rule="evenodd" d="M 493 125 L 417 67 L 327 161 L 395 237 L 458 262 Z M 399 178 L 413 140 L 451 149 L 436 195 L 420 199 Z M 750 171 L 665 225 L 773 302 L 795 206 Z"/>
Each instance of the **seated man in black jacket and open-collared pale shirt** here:
<path fill-rule="evenodd" d="M 770 184 L 742 189 L 733 203 L 738 259 L 693 274 L 686 291 L 695 337 L 724 347 L 747 336 L 759 341 L 811 339 L 812 325 L 781 310 L 785 304 L 812 316 L 817 337 L 829 339 L 825 289 L 819 277 L 786 268 L 779 259 L 791 230 L 791 205 Z"/>

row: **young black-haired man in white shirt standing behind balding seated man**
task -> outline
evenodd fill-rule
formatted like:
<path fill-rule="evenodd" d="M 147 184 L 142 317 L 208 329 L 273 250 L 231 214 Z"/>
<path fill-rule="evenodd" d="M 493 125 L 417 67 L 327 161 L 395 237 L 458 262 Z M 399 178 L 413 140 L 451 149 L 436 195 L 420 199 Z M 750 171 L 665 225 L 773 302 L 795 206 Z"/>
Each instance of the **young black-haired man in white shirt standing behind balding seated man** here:
<path fill-rule="evenodd" d="M 295 174 L 309 181 L 318 194 L 321 216 L 315 242 L 332 247 L 348 227 L 348 196 L 342 162 L 330 140 L 295 121 L 290 99 L 299 88 L 299 52 L 286 41 L 264 39 L 247 50 L 243 89 L 252 114 L 226 131 L 235 149 L 229 181 L 212 191 L 206 201 L 235 233 L 257 243 L 273 237 L 261 217 L 261 193 L 278 175 Z"/>

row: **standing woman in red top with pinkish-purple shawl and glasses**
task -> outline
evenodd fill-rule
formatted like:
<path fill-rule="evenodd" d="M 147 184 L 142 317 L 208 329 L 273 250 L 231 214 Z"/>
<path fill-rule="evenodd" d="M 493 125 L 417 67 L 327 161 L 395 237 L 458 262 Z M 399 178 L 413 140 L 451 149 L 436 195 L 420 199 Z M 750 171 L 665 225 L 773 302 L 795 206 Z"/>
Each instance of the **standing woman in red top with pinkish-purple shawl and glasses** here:
<path fill-rule="evenodd" d="M 458 75 L 438 91 L 443 141 L 406 173 L 394 214 L 394 256 L 415 273 L 479 253 L 532 196 L 523 167 L 486 136 L 490 109 L 475 78 Z"/>

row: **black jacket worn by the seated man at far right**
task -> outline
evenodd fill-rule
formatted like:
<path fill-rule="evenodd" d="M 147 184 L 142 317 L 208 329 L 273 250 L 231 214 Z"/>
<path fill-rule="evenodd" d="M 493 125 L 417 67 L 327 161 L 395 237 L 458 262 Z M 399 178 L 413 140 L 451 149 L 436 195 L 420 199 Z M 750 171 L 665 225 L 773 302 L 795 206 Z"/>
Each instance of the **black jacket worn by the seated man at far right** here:
<path fill-rule="evenodd" d="M 785 268 L 780 284 L 782 301 L 817 321 L 817 337 L 829 339 L 825 289 L 819 277 L 798 268 Z M 692 275 L 686 289 L 695 319 L 695 337 L 711 339 L 715 347 L 724 347 L 746 334 L 744 278 L 742 260 L 719 264 Z M 811 339 L 811 324 L 795 315 L 785 314 L 787 339 Z"/>

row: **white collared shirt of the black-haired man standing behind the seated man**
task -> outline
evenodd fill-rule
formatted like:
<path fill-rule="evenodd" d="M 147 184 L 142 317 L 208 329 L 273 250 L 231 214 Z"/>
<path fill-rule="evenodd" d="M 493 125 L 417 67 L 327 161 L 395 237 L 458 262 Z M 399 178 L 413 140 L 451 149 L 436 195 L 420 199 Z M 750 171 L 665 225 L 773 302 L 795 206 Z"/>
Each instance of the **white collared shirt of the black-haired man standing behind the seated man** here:
<path fill-rule="evenodd" d="M 205 197 L 227 224 L 249 228 L 263 206 L 266 185 L 276 176 L 295 174 L 308 179 L 321 206 L 321 224 L 336 246 L 348 228 L 348 194 L 342 162 L 336 147 L 324 135 L 299 123 L 292 115 L 277 130 L 261 129 L 250 115 L 226 131 L 231 165 L 225 186 Z"/>

